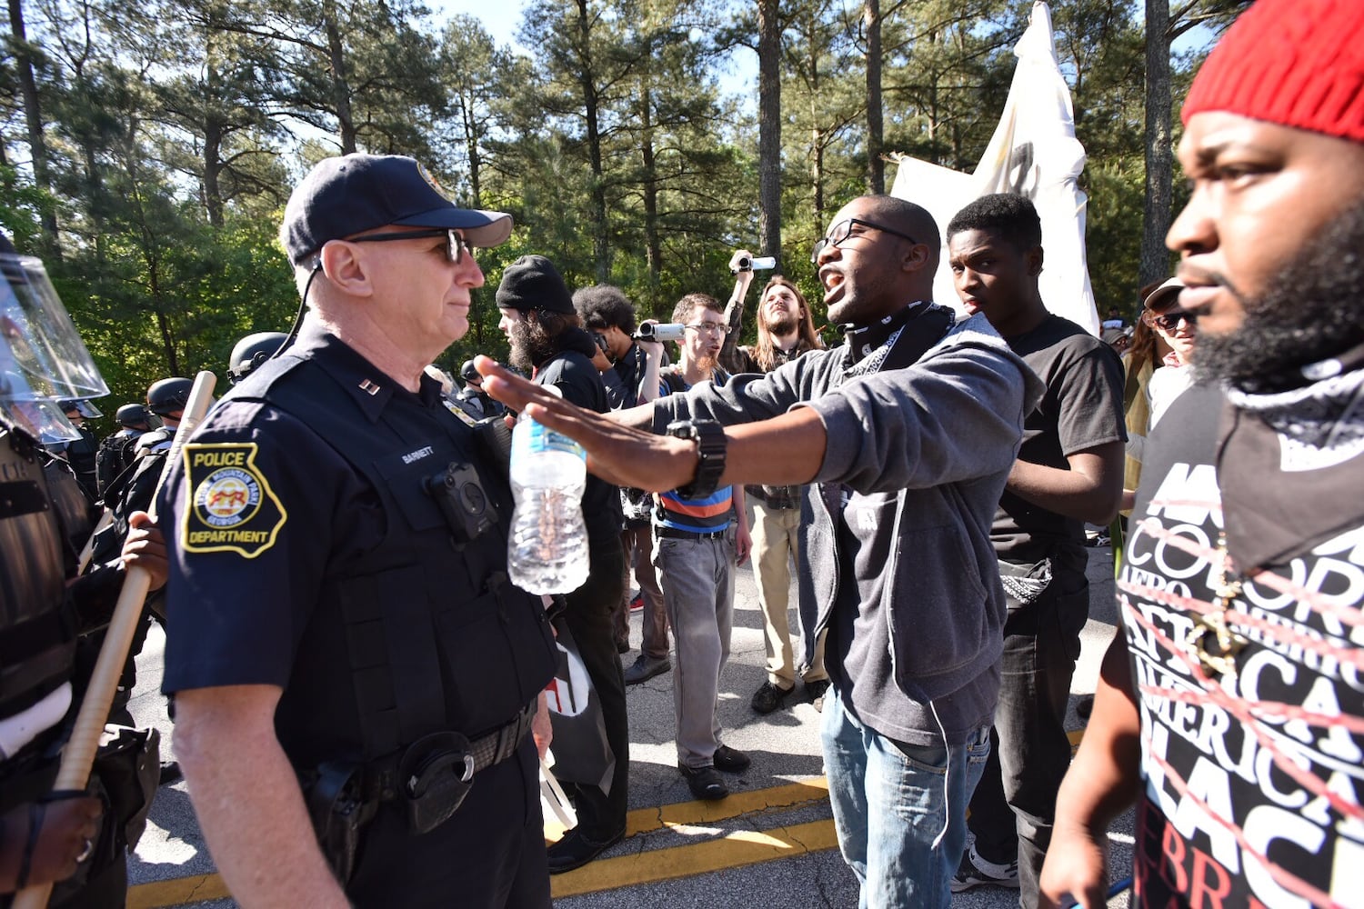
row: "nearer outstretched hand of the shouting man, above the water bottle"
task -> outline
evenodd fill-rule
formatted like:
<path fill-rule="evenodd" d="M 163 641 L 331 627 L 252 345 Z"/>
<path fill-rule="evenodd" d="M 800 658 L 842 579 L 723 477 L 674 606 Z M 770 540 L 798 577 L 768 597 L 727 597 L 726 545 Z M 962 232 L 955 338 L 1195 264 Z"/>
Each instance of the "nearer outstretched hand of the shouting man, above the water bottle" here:
<path fill-rule="evenodd" d="M 577 440 L 587 448 L 588 470 L 608 482 L 663 492 L 683 487 L 696 476 L 698 454 L 694 442 L 622 427 L 610 417 L 577 407 L 527 382 L 491 357 L 475 357 L 473 365 L 484 379 L 484 391 L 510 409 Z"/>

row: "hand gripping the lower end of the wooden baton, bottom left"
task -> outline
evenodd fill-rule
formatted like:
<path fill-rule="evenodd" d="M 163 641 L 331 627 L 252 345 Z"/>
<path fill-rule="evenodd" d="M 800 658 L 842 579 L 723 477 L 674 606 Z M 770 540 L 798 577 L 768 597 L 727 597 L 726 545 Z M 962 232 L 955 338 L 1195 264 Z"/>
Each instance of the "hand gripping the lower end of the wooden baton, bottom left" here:
<path fill-rule="evenodd" d="M 64 880 L 90 857 L 100 834 L 98 799 L 78 796 L 38 805 L 22 804 L 0 818 L 0 893 Z M 29 825 L 38 822 L 38 838 L 29 853 L 29 874 L 20 879 Z"/>

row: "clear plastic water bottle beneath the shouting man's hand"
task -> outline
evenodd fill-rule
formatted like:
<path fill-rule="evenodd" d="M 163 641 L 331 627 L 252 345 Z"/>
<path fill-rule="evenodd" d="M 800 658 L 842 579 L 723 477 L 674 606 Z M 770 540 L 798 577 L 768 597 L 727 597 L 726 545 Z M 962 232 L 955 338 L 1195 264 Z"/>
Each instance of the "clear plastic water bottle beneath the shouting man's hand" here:
<path fill-rule="evenodd" d="M 512 431 L 512 583 L 531 593 L 569 593 L 588 579 L 585 485 L 582 446 L 522 414 Z"/>

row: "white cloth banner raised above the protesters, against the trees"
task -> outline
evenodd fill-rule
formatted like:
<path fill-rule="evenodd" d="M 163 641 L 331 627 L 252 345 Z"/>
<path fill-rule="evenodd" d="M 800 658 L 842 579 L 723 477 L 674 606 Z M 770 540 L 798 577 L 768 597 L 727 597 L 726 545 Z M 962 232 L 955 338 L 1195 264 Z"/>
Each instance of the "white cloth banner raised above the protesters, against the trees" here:
<path fill-rule="evenodd" d="M 1076 183 L 1084 169 L 1084 149 L 1075 138 L 1071 90 L 1061 76 L 1052 41 L 1052 11 L 1043 0 L 1033 4 L 1031 25 L 1013 53 L 1019 59 L 1013 84 L 975 173 L 900 158 L 891 195 L 928 209 L 940 230 L 978 196 L 1018 192 L 1031 199 L 1042 219 L 1042 300 L 1052 312 L 1097 335 L 1099 318 L 1084 256 L 1087 199 Z M 947 264 L 945 238 L 933 290 L 938 303 L 960 305 Z"/>

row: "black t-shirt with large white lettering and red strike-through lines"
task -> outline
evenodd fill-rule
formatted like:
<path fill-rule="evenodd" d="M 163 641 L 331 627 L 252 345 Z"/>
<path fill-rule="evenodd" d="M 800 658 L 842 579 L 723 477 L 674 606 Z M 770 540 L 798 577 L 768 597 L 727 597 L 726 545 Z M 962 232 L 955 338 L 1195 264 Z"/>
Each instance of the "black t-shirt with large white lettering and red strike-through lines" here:
<path fill-rule="evenodd" d="M 1361 906 L 1364 455 L 1305 469 L 1263 424 L 1243 431 L 1245 414 L 1228 436 L 1229 416 L 1219 391 L 1195 387 L 1161 421 L 1118 578 L 1142 717 L 1139 905 Z M 1236 465 L 1234 480 L 1219 463 Z M 1338 485 L 1345 474 L 1356 485 Z M 1269 508 L 1279 540 L 1300 536 L 1244 575 L 1229 568 L 1241 586 L 1224 609 L 1229 482 L 1330 484 L 1341 499 L 1323 519 L 1312 496 L 1230 497 L 1233 529 L 1239 511 Z M 1230 536 L 1233 557 L 1254 548 Z M 1232 672 L 1200 661 L 1217 656 L 1218 620 L 1244 641 Z"/>

